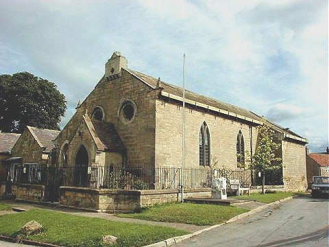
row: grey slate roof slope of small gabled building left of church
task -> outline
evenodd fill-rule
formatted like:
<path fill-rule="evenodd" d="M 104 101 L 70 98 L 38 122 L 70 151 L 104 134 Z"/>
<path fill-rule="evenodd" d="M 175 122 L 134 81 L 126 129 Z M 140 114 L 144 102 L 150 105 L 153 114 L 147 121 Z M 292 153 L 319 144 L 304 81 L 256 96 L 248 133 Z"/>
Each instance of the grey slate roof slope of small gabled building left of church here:
<path fill-rule="evenodd" d="M 45 152 L 50 152 L 53 149 L 53 140 L 56 139 L 58 134 L 60 133 L 59 130 L 47 130 L 47 129 L 40 129 L 31 126 L 27 126 L 29 131 L 34 136 L 34 139 L 40 145 L 40 148 L 46 148 Z"/>

